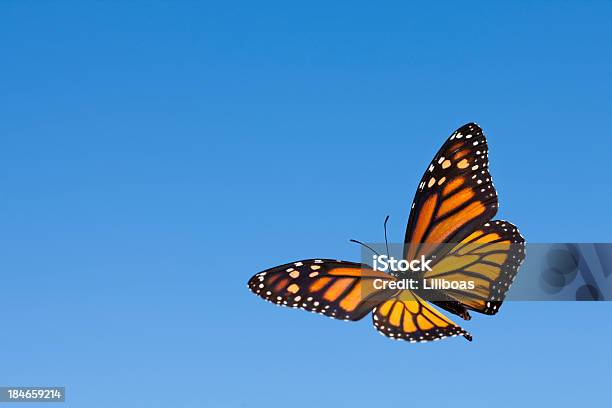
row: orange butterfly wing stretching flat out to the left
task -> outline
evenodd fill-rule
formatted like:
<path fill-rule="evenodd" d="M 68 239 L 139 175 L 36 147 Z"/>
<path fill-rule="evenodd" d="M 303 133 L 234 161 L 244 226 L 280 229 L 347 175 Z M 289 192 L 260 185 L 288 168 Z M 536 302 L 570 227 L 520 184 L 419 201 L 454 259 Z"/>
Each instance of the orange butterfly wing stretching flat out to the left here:
<path fill-rule="evenodd" d="M 383 282 L 393 280 L 367 265 L 309 259 L 260 272 L 249 280 L 248 286 L 259 297 L 281 306 L 359 320 L 397 292 L 381 288 Z"/>

